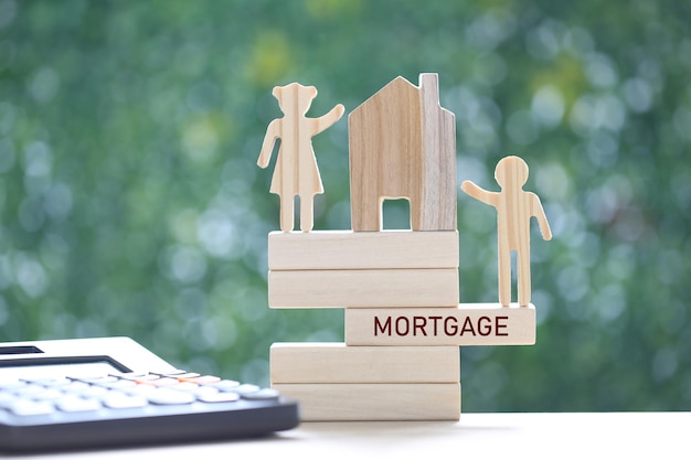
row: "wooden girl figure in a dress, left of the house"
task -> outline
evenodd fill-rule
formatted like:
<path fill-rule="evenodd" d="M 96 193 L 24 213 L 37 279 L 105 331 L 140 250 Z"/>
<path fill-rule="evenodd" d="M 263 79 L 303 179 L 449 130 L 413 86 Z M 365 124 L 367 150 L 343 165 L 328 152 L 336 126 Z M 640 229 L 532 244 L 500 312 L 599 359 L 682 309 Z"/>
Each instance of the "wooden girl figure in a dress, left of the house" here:
<path fill-rule="evenodd" d="M 293 231 L 294 200 L 299 195 L 300 229 L 310 232 L 315 195 L 323 193 L 311 138 L 338 121 L 344 108 L 339 104 L 319 118 L 307 118 L 305 115 L 317 96 L 317 88 L 291 83 L 276 86 L 272 94 L 285 116 L 268 125 L 257 164 L 268 165 L 276 139 L 280 139 L 270 186 L 270 192 L 280 196 L 280 229 Z"/>

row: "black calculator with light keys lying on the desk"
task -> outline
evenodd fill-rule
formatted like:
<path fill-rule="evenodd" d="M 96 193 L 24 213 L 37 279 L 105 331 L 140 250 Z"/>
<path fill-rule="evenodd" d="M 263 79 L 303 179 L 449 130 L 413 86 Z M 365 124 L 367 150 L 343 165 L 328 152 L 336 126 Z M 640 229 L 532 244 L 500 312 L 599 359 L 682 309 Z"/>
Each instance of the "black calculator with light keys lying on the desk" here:
<path fill-rule="evenodd" d="M 266 436 L 299 424 L 273 388 L 179 370 L 129 338 L 0 343 L 0 450 Z"/>

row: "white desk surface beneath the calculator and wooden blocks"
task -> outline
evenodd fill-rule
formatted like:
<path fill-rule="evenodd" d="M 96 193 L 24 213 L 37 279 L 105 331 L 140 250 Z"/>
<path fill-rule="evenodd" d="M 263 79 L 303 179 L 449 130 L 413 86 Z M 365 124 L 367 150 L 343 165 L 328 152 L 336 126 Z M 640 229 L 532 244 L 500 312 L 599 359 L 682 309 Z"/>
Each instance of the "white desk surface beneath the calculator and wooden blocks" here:
<path fill-rule="evenodd" d="M 0 458 L 13 458 L 1 456 Z M 18 456 L 23 460 L 691 458 L 691 413 L 461 414 L 459 421 L 309 422 L 269 438 Z"/>

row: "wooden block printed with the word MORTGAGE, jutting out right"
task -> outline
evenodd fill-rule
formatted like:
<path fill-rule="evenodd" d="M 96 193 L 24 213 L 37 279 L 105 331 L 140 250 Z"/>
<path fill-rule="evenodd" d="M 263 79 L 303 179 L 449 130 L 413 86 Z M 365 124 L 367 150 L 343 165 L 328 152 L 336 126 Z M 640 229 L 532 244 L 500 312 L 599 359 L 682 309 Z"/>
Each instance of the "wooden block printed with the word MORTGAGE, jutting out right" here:
<path fill-rule="evenodd" d="M 535 307 L 346 309 L 348 345 L 532 345 Z"/>

